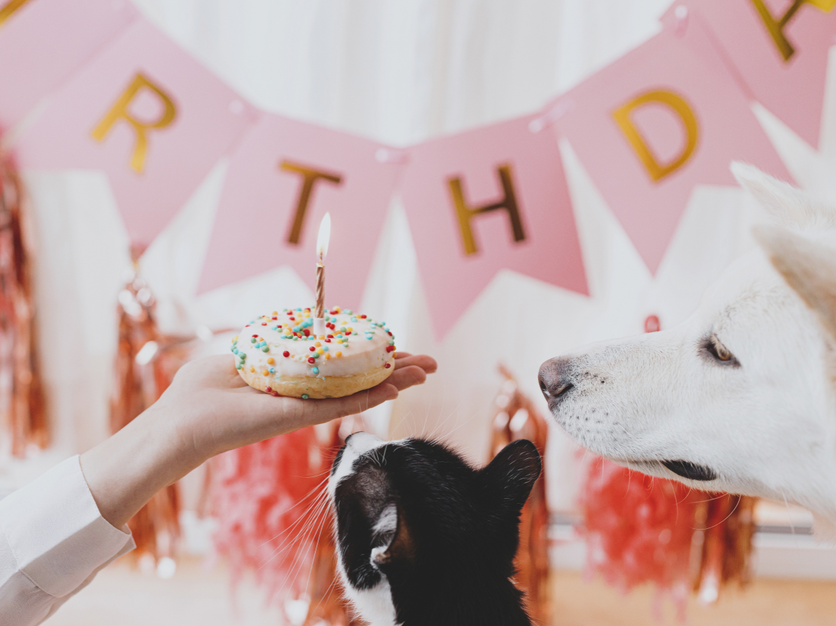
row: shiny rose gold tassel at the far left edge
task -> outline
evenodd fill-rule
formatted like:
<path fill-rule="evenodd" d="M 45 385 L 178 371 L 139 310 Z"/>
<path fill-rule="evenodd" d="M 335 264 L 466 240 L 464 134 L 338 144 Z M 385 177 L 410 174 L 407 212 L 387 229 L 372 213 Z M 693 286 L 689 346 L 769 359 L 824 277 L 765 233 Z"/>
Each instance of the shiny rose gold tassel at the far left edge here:
<path fill-rule="evenodd" d="M 34 320 L 31 232 L 23 185 L 8 155 L 0 156 L 0 421 L 13 456 L 49 444 Z"/>

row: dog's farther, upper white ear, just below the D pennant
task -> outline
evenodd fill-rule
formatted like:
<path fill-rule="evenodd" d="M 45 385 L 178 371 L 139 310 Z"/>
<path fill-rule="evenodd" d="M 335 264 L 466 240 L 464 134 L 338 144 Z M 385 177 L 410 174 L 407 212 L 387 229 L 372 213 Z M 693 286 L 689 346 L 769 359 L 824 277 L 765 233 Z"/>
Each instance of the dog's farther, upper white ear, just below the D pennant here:
<path fill-rule="evenodd" d="M 836 211 L 754 165 L 732 162 L 732 174 L 770 216 L 783 226 L 832 226 Z"/>

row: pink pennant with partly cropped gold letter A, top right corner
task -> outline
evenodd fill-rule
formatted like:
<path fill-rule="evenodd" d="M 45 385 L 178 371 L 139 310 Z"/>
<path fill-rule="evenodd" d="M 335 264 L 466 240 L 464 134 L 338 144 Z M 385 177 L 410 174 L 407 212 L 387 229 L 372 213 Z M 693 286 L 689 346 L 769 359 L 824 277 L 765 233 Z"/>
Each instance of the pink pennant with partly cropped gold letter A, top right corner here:
<path fill-rule="evenodd" d="M 836 0 L 686 0 L 662 20 L 706 23 L 750 97 L 818 147 L 834 8 Z"/>

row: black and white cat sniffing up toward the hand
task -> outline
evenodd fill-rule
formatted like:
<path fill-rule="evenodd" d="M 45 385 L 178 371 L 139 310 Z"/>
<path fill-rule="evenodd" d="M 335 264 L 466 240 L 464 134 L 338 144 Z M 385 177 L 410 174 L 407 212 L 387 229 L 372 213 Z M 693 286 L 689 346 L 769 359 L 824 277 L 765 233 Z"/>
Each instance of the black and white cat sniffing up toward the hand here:
<path fill-rule="evenodd" d="M 530 441 L 477 470 L 434 441 L 345 440 L 329 478 L 339 574 L 370 626 L 530 626 L 512 583 Z"/>

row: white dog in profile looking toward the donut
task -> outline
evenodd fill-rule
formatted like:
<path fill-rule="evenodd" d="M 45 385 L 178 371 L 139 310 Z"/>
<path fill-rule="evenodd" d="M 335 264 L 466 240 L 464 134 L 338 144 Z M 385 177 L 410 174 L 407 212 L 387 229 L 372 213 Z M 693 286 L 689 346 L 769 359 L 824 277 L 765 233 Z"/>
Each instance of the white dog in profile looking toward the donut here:
<path fill-rule="evenodd" d="M 795 234 L 757 228 L 767 254 L 732 264 L 684 323 L 551 359 L 540 387 L 594 453 L 793 501 L 836 537 L 836 209 L 749 165 L 732 171 Z"/>

